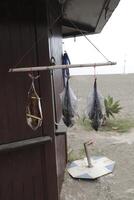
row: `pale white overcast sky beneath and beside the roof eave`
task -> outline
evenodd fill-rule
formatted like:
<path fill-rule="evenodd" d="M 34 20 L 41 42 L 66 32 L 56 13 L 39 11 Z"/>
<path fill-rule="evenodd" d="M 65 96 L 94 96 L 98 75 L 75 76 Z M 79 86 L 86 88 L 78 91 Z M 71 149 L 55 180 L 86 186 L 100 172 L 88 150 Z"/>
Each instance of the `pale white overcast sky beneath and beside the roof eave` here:
<path fill-rule="evenodd" d="M 113 15 L 100 34 L 90 35 L 89 39 L 116 66 L 98 67 L 97 74 L 134 73 L 134 0 L 120 0 Z M 69 54 L 72 64 L 105 62 L 104 58 L 84 37 L 65 39 L 63 49 Z M 93 70 L 70 69 L 74 74 L 92 74 Z"/>

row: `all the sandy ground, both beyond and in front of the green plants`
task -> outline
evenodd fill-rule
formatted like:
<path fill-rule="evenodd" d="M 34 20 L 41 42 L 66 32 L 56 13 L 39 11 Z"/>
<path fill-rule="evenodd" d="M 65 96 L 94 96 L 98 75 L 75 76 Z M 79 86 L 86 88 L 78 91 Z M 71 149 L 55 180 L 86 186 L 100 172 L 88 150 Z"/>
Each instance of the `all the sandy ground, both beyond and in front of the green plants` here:
<path fill-rule="evenodd" d="M 71 84 L 78 96 L 79 113 L 82 114 L 93 79 L 76 77 Z M 119 117 L 133 117 L 134 75 L 100 76 L 98 87 L 104 96 L 109 94 L 120 100 L 123 110 Z M 66 172 L 61 200 L 134 200 L 134 130 L 120 135 L 115 132 L 87 132 L 75 126 L 68 131 L 68 149 L 79 153 L 83 143 L 90 138 L 96 140 L 92 155 L 105 155 L 114 160 L 114 172 L 94 181 L 76 180 Z"/>

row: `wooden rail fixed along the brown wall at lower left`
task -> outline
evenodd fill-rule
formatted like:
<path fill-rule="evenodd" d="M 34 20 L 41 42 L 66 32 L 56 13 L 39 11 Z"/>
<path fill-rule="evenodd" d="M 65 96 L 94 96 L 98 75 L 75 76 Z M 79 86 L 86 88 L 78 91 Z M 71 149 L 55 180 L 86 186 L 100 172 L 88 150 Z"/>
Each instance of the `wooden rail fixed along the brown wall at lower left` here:
<path fill-rule="evenodd" d="M 17 142 L 11 142 L 8 144 L 1 144 L 0 152 L 13 151 L 13 150 L 18 150 L 25 147 L 32 147 L 34 145 L 41 145 L 48 141 L 52 141 L 52 138 L 49 136 L 42 136 L 42 137 L 36 137 L 32 139 L 21 140 Z"/>

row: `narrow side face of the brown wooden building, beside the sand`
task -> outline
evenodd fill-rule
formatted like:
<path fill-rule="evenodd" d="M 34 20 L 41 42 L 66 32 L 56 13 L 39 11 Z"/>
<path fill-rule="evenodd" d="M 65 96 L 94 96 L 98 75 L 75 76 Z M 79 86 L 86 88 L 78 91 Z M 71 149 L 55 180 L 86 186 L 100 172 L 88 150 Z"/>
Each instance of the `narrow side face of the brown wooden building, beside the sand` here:
<path fill-rule="evenodd" d="M 55 12 L 56 7 L 58 8 L 57 12 Z M 57 1 L 49 1 L 48 13 L 50 13 L 48 16 L 50 58 L 54 57 L 56 64 L 62 64 L 62 37 L 61 37 L 62 21 L 61 21 L 60 7 Z M 54 91 L 55 122 L 60 123 L 62 117 L 60 93 L 64 89 L 61 69 L 53 71 L 52 84 Z M 61 131 L 59 126 L 57 126 L 56 127 L 57 130 L 55 130 L 55 135 L 56 135 L 55 148 L 56 148 L 58 190 L 60 193 L 64 178 L 64 169 L 66 167 L 66 162 L 67 162 L 67 141 L 66 141 L 66 128 L 63 128 L 63 130 Z M 57 134 L 61 132 L 62 134 Z"/>

